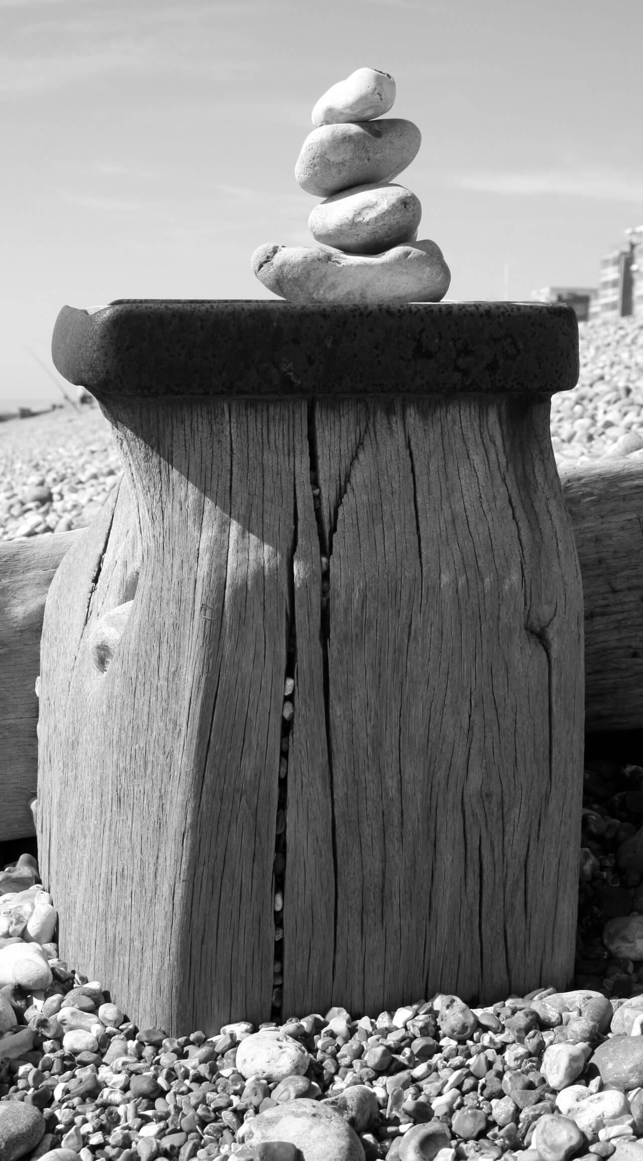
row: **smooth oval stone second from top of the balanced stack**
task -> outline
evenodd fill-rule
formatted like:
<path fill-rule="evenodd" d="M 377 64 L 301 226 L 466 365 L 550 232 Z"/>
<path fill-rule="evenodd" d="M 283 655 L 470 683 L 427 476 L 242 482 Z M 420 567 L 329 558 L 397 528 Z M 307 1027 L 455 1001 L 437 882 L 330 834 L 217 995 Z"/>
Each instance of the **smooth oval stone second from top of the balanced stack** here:
<path fill-rule="evenodd" d="M 411 165 L 420 144 L 418 127 L 402 117 L 322 125 L 302 145 L 295 179 L 317 197 L 390 181 Z"/>

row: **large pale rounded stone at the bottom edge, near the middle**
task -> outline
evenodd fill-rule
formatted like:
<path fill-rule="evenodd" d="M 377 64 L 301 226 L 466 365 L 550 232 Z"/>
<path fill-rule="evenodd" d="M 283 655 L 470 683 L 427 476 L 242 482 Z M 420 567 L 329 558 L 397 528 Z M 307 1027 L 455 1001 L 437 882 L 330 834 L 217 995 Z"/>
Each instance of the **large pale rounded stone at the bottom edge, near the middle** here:
<path fill-rule="evenodd" d="M 339 1112 L 318 1101 L 292 1101 L 266 1109 L 244 1122 L 237 1140 L 251 1148 L 265 1141 L 289 1141 L 301 1151 L 303 1161 L 364 1161 L 355 1130 Z"/>

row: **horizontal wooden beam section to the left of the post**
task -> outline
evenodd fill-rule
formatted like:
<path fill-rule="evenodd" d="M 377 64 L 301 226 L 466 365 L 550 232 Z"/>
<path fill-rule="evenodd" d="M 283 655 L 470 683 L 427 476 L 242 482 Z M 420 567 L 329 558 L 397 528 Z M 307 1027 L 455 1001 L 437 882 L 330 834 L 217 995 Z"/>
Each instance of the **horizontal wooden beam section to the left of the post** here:
<path fill-rule="evenodd" d="M 0 545 L 0 842 L 35 834 L 41 630 L 53 574 L 82 531 Z"/>

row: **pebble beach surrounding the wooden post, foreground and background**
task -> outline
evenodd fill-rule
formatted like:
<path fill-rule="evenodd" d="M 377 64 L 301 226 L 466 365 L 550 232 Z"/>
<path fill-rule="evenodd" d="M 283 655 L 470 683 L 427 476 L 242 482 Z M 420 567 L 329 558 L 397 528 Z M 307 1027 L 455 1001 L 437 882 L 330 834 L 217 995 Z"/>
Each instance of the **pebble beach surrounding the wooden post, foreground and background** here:
<path fill-rule="evenodd" d="M 561 470 L 643 448 L 643 320 L 579 331 L 579 384 L 551 405 Z M 2 540 L 86 526 L 121 475 L 96 405 L 0 424 L 0 464 Z M 643 1161 L 640 759 L 586 759 L 569 990 L 484 1009 L 445 993 L 208 1037 L 139 1027 L 58 958 L 56 900 L 22 854 L 0 871 L 0 1161 Z"/>

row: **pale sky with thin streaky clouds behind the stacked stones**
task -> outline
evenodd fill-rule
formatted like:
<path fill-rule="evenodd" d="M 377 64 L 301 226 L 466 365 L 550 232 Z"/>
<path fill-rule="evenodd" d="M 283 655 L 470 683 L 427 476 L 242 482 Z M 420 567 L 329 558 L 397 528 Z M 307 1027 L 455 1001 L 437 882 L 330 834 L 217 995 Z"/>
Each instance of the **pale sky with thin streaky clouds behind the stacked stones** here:
<path fill-rule="evenodd" d="M 64 303 L 272 297 L 250 255 L 313 244 L 295 161 L 364 65 L 449 298 L 594 286 L 643 222 L 642 44 L 643 0 L 0 0 L 0 406 L 59 398 Z"/>

